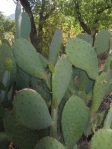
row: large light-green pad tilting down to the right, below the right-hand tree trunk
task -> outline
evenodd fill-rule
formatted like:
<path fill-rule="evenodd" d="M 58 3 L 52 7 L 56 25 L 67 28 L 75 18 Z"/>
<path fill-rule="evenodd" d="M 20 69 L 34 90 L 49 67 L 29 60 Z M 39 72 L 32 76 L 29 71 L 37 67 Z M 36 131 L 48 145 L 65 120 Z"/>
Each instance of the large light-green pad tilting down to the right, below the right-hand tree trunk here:
<path fill-rule="evenodd" d="M 96 79 L 98 60 L 94 48 L 89 43 L 79 38 L 71 38 L 66 45 L 66 53 L 74 66 L 85 70 L 90 78 Z"/>

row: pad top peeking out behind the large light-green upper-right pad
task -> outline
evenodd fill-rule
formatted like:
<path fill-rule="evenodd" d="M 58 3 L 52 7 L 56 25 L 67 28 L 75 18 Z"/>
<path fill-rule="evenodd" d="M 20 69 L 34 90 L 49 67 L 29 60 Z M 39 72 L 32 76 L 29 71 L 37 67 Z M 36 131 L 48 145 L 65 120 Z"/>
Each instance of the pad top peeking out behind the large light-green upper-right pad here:
<path fill-rule="evenodd" d="M 93 38 L 89 34 L 79 34 L 79 35 L 77 35 L 77 37 L 88 42 L 88 43 L 90 43 L 91 45 L 93 43 Z"/>

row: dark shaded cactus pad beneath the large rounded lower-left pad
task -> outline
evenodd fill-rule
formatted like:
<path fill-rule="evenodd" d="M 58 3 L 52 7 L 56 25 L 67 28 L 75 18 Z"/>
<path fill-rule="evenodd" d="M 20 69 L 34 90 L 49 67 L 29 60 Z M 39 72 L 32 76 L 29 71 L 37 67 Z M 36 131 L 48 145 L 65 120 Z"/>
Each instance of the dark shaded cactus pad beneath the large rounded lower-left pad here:
<path fill-rule="evenodd" d="M 37 132 L 20 125 L 14 113 L 6 112 L 4 127 L 9 140 L 20 149 L 33 149 L 35 147 L 38 139 Z"/>

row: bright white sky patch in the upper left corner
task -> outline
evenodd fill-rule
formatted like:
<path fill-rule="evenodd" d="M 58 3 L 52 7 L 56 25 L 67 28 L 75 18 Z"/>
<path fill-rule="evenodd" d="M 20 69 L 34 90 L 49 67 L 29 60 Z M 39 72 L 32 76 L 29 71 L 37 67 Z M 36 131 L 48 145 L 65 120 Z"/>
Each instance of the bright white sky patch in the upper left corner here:
<path fill-rule="evenodd" d="M 16 5 L 13 0 L 0 0 L 0 12 L 4 15 L 9 16 L 15 13 Z"/>

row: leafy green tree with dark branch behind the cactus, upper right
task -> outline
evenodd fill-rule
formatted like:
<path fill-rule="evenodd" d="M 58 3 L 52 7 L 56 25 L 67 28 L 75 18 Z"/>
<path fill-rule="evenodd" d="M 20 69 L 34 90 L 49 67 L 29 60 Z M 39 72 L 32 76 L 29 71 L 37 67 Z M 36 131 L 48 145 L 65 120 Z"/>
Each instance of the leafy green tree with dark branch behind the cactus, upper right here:
<path fill-rule="evenodd" d="M 112 0 L 60 0 L 65 15 L 74 16 L 84 32 L 91 34 L 112 21 Z"/>

